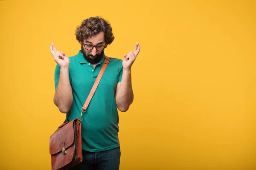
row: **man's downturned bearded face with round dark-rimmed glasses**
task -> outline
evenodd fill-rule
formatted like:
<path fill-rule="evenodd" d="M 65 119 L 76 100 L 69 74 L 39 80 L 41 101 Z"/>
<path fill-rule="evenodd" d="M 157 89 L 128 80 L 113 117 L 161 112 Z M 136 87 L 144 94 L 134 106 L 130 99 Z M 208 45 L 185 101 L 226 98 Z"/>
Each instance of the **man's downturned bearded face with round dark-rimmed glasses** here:
<path fill-rule="evenodd" d="M 93 45 L 94 47 L 91 50 L 87 50 L 86 48 L 84 48 L 84 45 Z M 103 57 L 104 49 L 102 51 L 97 51 L 95 47 L 100 45 L 106 45 L 103 32 L 87 38 L 81 44 L 81 53 L 83 54 L 84 58 L 91 64 L 98 63 Z"/>

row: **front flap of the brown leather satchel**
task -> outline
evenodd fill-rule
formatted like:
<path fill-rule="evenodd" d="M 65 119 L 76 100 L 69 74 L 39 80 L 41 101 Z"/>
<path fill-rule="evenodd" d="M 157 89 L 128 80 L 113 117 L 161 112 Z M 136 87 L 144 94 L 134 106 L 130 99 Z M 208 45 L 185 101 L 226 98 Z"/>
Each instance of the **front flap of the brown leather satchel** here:
<path fill-rule="evenodd" d="M 74 122 L 75 120 L 67 123 L 58 129 L 55 133 L 50 137 L 50 154 L 55 154 L 62 151 L 62 148 L 65 147 L 67 149 L 75 141 L 75 130 L 74 130 Z"/>

